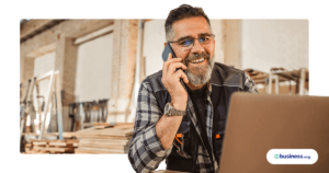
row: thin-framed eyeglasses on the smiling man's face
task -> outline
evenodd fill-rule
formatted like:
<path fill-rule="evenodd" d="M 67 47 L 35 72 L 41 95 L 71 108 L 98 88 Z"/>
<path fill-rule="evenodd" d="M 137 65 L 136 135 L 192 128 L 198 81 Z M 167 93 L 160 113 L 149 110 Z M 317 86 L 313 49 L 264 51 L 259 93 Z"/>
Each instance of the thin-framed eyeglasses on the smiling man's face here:
<path fill-rule="evenodd" d="M 168 43 L 174 43 L 177 44 L 181 50 L 190 50 L 194 46 L 194 39 L 197 39 L 200 45 L 203 47 L 211 46 L 214 43 L 214 34 L 207 35 L 207 36 L 201 36 L 198 38 L 188 38 L 183 41 L 175 41 L 175 42 L 168 42 Z"/>

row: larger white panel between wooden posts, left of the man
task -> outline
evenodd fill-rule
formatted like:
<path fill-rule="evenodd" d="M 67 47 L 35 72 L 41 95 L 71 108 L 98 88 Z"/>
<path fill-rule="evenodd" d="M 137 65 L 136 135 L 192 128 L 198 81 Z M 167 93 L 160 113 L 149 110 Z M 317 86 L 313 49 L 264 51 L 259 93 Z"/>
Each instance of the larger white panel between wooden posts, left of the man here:
<path fill-rule="evenodd" d="M 111 99 L 113 34 L 78 46 L 76 102 Z"/>

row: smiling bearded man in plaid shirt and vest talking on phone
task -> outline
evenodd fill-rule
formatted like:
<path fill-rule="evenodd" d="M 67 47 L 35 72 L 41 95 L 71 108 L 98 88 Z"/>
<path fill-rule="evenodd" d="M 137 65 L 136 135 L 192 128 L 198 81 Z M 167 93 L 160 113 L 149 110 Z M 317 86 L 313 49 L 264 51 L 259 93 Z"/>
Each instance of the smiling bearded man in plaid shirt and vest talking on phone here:
<path fill-rule="evenodd" d="M 166 170 L 217 172 L 230 95 L 258 90 L 243 71 L 215 64 L 203 9 L 180 4 L 164 26 L 164 46 L 169 43 L 178 58 L 169 55 L 162 70 L 140 85 L 129 164 L 135 172 L 150 172 L 162 161 Z"/>

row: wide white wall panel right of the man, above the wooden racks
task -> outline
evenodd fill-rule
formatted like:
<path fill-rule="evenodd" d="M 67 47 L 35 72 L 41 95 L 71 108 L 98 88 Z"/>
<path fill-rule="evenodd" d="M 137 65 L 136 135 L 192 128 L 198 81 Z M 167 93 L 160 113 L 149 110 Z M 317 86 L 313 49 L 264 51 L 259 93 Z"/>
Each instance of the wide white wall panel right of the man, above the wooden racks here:
<path fill-rule="evenodd" d="M 309 69 L 308 19 L 246 19 L 241 32 L 242 69 Z"/>

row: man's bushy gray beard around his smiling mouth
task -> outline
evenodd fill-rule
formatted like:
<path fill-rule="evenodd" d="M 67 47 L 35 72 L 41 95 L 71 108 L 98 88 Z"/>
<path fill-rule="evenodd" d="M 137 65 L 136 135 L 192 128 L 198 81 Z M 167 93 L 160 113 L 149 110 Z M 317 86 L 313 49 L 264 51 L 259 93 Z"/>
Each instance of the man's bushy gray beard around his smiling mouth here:
<path fill-rule="evenodd" d="M 200 56 L 196 56 L 196 58 L 198 58 Z M 191 58 L 190 57 L 186 57 L 185 58 L 185 65 L 186 65 L 186 70 L 185 70 L 185 73 L 188 76 L 188 79 L 189 79 L 189 82 L 191 82 L 193 85 L 203 85 L 205 83 L 207 83 L 209 80 L 211 80 L 211 77 L 212 77 L 212 71 L 213 71 L 213 68 L 214 68 L 214 65 L 215 65 L 215 54 L 213 55 L 212 58 L 209 58 L 208 55 L 206 56 L 202 56 L 204 58 L 207 58 L 208 60 L 208 64 L 206 67 L 197 67 L 197 68 L 194 68 L 191 69 L 188 67 L 188 61 L 191 60 L 191 59 L 196 59 L 195 56 L 192 56 Z"/>

